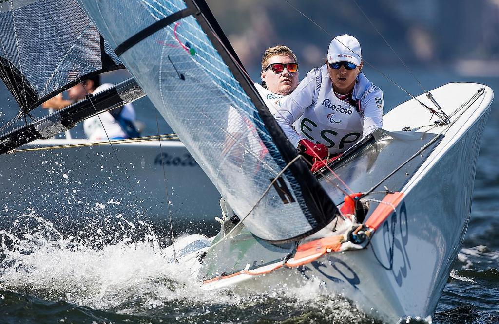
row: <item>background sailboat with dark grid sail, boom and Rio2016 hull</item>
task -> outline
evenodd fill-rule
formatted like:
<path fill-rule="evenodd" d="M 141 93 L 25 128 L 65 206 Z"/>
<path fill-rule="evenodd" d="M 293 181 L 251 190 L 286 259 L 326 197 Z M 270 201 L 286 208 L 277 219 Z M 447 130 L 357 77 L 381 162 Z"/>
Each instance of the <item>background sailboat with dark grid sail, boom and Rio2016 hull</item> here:
<path fill-rule="evenodd" d="M 132 202 L 121 199 L 122 209 L 124 205 L 128 208 L 122 210 L 125 216 L 142 213 L 152 223 L 167 223 L 165 206 L 170 201 L 174 215 L 189 215 L 187 220 L 174 217 L 183 229 L 189 221 L 210 227 L 217 224 L 213 218 L 220 210 L 220 194 L 184 145 L 167 141 L 172 136 L 162 136 L 161 143 L 160 136 L 141 139 L 147 141 L 100 143 L 68 138 L 69 129 L 78 121 L 144 96 L 134 92 L 140 87 L 133 79 L 121 84 L 125 85 L 119 90 L 123 98 L 117 96 L 118 86 L 101 97 L 96 95 L 41 119 L 31 117 L 33 109 L 55 94 L 96 74 L 125 68 L 76 1 L 14 0 L 2 4 L 0 17 L 0 76 L 19 107 L 17 116 L 9 116 L 14 118 L 0 125 L 2 152 L 15 150 L 1 159 L 0 193 L 8 196 L 2 203 L 1 227 L 10 227 L 8 216 L 31 210 L 42 211 L 49 220 L 69 216 L 68 226 L 85 226 L 82 219 L 100 210 L 101 203 L 109 206 L 129 191 Z M 7 132 L 12 128 L 9 126 L 22 122 L 23 127 Z M 61 132 L 66 139 L 52 138 Z M 116 161 L 115 156 L 119 161 L 109 170 L 108 158 Z M 132 186 L 124 181 L 120 166 L 124 166 Z M 166 201 L 163 172 L 170 175 L 170 199 Z M 185 181 L 197 185 L 182 185 Z M 68 182 L 69 189 L 61 188 Z M 203 208 L 189 204 L 195 198 Z"/>

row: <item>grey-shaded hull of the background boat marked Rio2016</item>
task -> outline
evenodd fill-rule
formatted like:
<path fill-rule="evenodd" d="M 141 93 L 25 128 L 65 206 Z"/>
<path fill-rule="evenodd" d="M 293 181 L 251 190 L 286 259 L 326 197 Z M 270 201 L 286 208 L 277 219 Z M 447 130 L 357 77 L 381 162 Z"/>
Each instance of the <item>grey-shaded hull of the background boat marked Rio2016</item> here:
<path fill-rule="evenodd" d="M 38 140 L 21 149 L 88 143 Z M 2 155 L 0 194 L 6 199 L 0 203 L 0 221 L 8 226 L 10 216 L 33 212 L 78 230 L 82 219 L 122 214 L 125 219 L 166 225 L 171 201 L 176 229 L 213 233 L 220 193 L 182 143 L 162 141 L 160 152 L 159 141 L 151 141 Z"/>

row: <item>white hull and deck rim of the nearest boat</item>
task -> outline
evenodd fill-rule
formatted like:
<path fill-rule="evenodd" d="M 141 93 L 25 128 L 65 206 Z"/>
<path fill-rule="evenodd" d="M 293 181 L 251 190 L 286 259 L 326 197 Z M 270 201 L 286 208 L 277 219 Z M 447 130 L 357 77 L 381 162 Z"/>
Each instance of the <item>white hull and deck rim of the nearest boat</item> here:
<path fill-rule="evenodd" d="M 450 114 L 482 87 L 448 84 L 432 93 L 437 100 L 446 98 L 445 111 Z M 426 97 L 419 99 L 430 105 Z M 204 287 L 239 284 L 268 291 L 279 283 L 299 285 L 303 278 L 315 279 L 365 312 L 374 309 L 377 317 L 392 323 L 408 316 L 431 316 L 468 226 L 480 140 L 492 99 L 493 92 L 486 87 L 485 94 L 452 119 L 453 125 L 416 173 L 407 174 L 411 178 L 401 190 L 403 200 L 381 223 L 367 248 L 327 253 L 298 270 L 274 264 L 268 266 L 274 270 L 265 275 L 242 271 L 205 281 Z M 385 128 L 395 132 L 428 124 L 428 114 L 418 105 L 412 100 L 396 107 L 386 116 Z M 438 128 L 432 131 L 439 132 Z"/>

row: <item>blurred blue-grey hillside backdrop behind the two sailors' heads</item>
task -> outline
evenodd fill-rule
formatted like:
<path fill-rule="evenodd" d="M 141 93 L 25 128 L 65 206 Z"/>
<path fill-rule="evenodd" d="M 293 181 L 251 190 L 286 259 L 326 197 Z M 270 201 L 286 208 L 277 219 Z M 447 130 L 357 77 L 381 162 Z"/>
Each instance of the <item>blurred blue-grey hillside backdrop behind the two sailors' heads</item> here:
<path fill-rule="evenodd" d="M 499 75 L 499 0 L 207 0 L 245 66 L 258 69 L 262 51 L 290 46 L 307 69 L 321 65 L 332 35 L 357 37 L 363 58 L 385 66 L 453 64 L 463 73 Z M 374 26 L 366 19 L 357 4 Z"/>

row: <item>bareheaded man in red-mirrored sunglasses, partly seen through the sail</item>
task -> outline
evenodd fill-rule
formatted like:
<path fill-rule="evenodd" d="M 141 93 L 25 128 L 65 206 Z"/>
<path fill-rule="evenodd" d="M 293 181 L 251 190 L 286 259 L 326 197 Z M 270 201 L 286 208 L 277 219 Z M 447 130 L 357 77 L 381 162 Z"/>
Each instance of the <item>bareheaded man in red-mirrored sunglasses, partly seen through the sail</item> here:
<path fill-rule="evenodd" d="M 284 45 L 276 45 L 265 49 L 261 58 L 261 84 L 254 83 L 268 110 L 272 115 L 282 106 L 282 101 L 298 86 L 298 61 L 293 51 Z M 228 136 L 225 152 L 232 150 L 232 156 L 243 160 L 248 150 L 244 146 L 234 147 L 234 144 L 245 134 L 252 154 L 262 154 L 264 146 L 256 134 L 249 129 L 250 121 L 236 108 L 229 109 Z M 242 163 L 242 161 L 241 161 Z"/>

